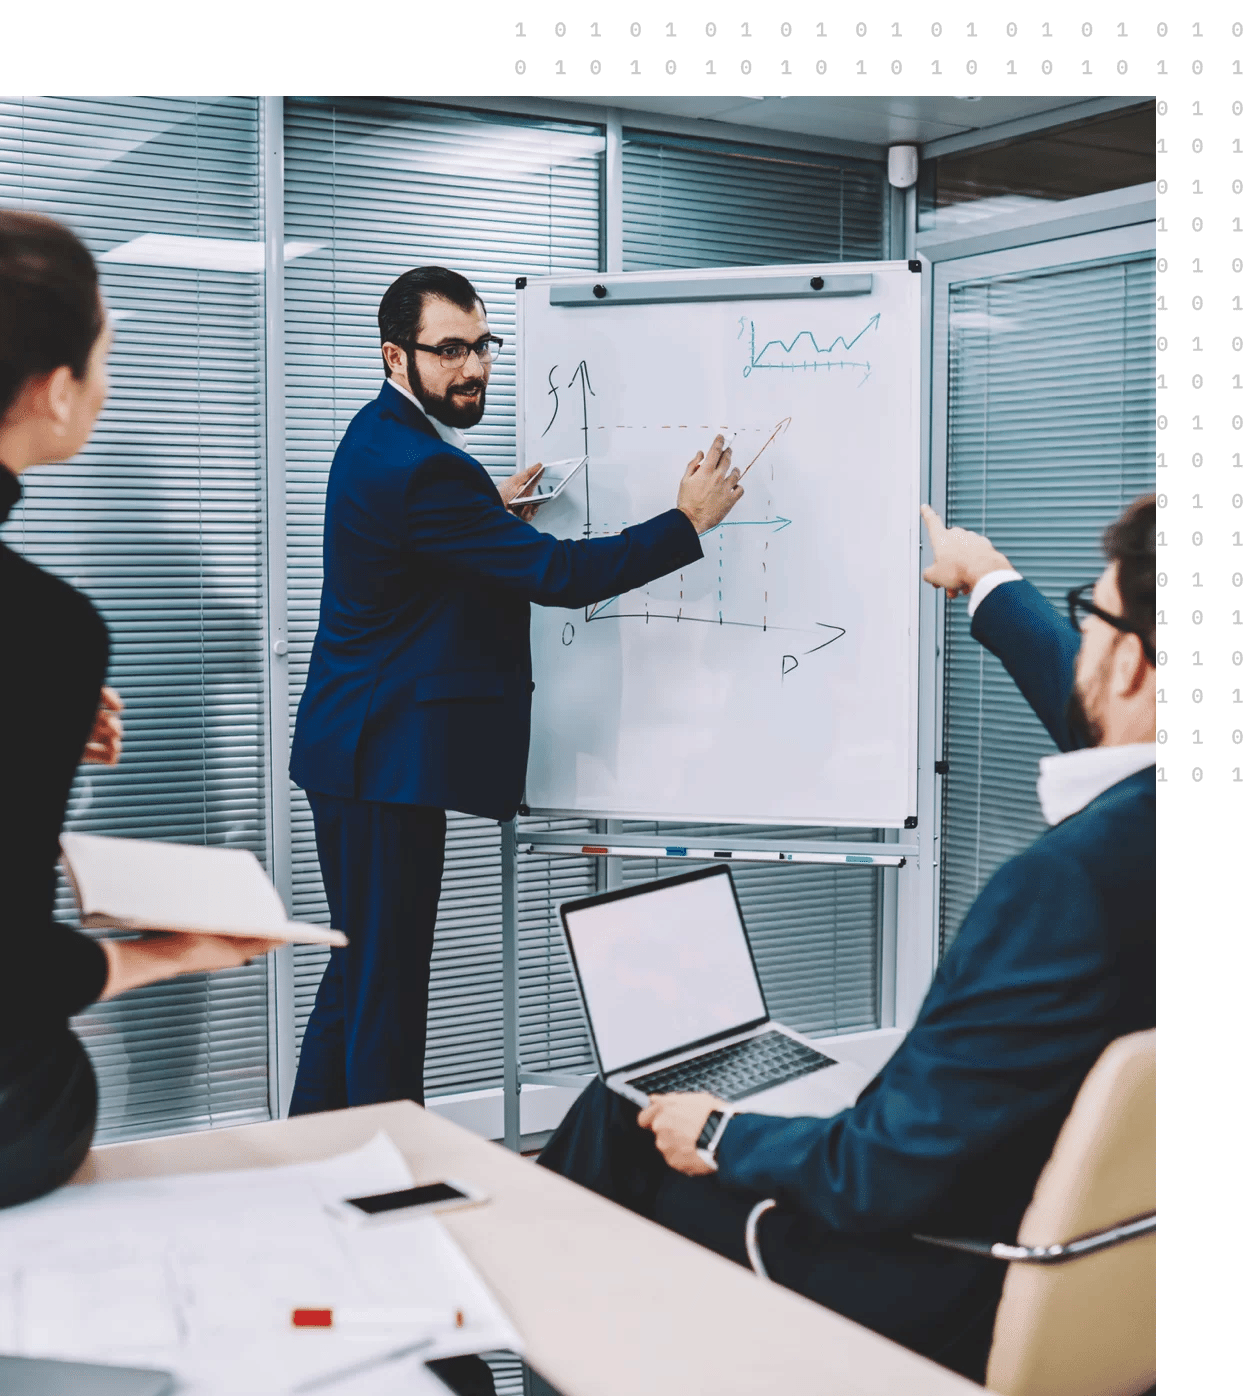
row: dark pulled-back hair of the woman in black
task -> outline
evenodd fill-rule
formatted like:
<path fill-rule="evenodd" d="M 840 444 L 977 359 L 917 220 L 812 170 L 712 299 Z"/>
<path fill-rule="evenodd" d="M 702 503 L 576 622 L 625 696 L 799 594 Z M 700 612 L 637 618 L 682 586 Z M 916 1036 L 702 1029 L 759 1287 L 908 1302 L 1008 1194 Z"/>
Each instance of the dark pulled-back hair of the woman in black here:
<path fill-rule="evenodd" d="M 96 264 L 52 218 L 0 208 L 0 419 L 36 374 L 87 373 L 105 327 Z"/>

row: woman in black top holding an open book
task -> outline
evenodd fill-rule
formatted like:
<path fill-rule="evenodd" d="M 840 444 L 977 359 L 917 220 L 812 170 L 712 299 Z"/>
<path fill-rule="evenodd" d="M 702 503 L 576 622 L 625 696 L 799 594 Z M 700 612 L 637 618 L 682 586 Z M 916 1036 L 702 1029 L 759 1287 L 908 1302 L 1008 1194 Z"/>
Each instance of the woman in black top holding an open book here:
<path fill-rule="evenodd" d="M 32 465 L 87 444 L 109 391 L 110 331 L 92 254 L 60 223 L 0 209 L 0 524 Z M 243 965 L 275 941 L 94 941 L 53 920 L 80 761 L 112 765 L 121 702 L 109 632 L 67 582 L 0 543 L 0 1206 L 64 1182 L 96 1122 L 96 1081 L 68 1019 L 98 998 Z"/>

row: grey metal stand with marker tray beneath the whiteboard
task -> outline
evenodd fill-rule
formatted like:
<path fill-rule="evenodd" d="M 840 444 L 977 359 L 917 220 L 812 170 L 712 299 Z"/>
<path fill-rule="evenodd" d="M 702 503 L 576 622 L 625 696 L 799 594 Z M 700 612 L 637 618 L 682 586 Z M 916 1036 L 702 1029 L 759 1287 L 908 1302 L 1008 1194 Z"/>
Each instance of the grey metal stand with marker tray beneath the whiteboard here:
<path fill-rule="evenodd" d="M 915 821 L 913 821 L 914 824 Z M 782 867 L 825 864 L 829 867 L 902 868 L 920 854 L 915 843 L 842 843 L 822 839 L 705 838 L 692 842 L 684 835 L 620 833 L 620 821 L 603 824 L 606 833 L 526 833 L 508 819 L 501 825 L 501 948 L 502 948 L 502 1142 L 518 1153 L 522 1139 L 521 1093 L 523 1086 L 568 1086 L 582 1090 L 593 1078 L 576 1072 L 525 1071 L 521 1044 L 519 1004 L 519 856 L 596 857 L 613 866 L 618 859 L 674 859 L 680 863 L 775 863 Z M 872 849 L 883 852 L 869 852 Z M 892 879 L 889 879 L 892 882 Z M 882 956 L 883 958 L 883 956 Z"/>

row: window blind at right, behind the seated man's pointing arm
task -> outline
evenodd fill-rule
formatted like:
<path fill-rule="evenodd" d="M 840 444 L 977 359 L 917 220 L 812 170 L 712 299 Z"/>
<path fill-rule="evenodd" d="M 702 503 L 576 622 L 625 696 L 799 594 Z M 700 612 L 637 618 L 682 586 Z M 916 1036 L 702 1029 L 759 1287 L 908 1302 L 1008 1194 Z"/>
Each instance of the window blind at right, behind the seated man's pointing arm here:
<path fill-rule="evenodd" d="M 1104 568 L 1104 526 L 1153 487 L 1154 281 L 1137 255 L 950 286 L 948 522 L 987 533 L 1062 613 Z M 1055 750 L 969 625 L 949 603 L 942 949 L 1045 826 L 1037 765 Z"/>

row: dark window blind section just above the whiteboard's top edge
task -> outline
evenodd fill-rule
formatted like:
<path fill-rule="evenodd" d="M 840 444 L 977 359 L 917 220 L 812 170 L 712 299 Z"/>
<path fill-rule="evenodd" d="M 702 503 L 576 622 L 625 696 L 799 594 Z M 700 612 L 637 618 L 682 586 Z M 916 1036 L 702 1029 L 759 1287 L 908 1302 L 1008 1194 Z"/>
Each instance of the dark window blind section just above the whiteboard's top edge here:
<path fill-rule="evenodd" d="M 885 170 L 814 151 L 624 133 L 624 269 L 886 257 Z"/>

